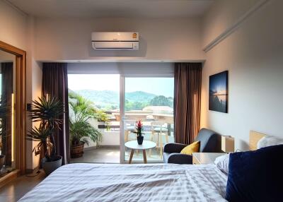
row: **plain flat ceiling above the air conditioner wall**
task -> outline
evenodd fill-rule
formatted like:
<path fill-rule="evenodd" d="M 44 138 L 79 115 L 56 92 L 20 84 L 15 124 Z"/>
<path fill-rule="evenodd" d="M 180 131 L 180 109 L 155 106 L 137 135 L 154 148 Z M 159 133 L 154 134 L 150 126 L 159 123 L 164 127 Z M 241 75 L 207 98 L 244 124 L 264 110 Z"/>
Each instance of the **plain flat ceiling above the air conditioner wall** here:
<path fill-rule="evenodd" d="M 213 0 L 6 0 L 37 17 L 179 18 L 202 16 Z"/>

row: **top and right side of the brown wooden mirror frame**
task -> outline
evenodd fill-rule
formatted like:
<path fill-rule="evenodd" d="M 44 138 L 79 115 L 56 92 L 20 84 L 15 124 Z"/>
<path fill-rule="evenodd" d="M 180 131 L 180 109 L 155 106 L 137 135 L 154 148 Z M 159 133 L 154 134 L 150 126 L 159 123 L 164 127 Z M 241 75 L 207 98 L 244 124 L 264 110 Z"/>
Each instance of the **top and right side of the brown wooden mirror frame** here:
<path fill-rule="evenodd" d="M 10 44 L 0 41 L 0 49 L 16 56 L 16 93 L 15 93 L 15 165 L 20 174 L 25 173 L 25 133 L 26 133 L 26 52 Z M 0 182 L 1 184 L 1 182 Z"/>

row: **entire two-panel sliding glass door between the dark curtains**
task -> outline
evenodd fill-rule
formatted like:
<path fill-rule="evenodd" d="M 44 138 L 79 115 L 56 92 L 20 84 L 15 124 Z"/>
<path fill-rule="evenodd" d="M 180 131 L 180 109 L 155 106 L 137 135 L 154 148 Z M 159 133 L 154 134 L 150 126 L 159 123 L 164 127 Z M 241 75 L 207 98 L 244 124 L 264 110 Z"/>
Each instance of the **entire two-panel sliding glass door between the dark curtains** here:
<path fill-rule="evenodd" d="M 161 162 L 163 145 L 175 139 L 173 92 L 171 74 L 70 73 L 69 101 L 78 104 L 79 109 L 84 109 L 84 105 L 91 107 L 95 117 L 88 122 L 102 136 L 98 141 L 83 136 L 88 141 L 83 156 L 74 156 L 71 162 L 129 162 L 132 150 L 125 147 L 125 143 L 137 143 L 134 129 L 139 120 L 144 126 L 144 141 L 149 141 L 154 147 L 146 149 L 145 153 L 135 151 L 132 161 L 144 162 L 145 154 L 147 162 Z M 74 110 L 77 109 L 73 108 L 70 104 L 69 117 L 74 125 L 77 119 Z M 107 121 L 103 121 L 103 117 Z M 71 133 L 71 140 L 73 136 Z"/>

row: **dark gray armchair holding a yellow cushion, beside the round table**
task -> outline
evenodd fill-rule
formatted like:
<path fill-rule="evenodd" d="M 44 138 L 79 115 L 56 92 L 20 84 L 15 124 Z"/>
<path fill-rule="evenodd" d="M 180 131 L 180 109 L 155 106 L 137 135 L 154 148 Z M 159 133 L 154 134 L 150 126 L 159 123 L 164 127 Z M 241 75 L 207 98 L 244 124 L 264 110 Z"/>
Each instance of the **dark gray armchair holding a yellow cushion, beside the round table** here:
<path fill-rule="evenodd" d="M 200 141 L 201 153 L 221 153 L 221 136 L 209 129 L 201 129 L 195 141 Z M 181 154 L 184 144 L 167 143 L 164 145 L 163 162 L 175 164 L 192 164 L 192 155 Z"/>

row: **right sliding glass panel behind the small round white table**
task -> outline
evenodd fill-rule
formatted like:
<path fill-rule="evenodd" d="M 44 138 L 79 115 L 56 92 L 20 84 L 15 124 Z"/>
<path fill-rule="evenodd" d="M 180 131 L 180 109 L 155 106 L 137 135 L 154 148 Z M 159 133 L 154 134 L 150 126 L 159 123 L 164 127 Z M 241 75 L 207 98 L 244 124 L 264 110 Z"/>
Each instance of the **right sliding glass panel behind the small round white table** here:
<path fill-rule="evenodd" d="M 147 162 L 161 162 L 163 145 L 174 142 L 173 94 L 174 78 L 171 76 L 122 76 L 120 84 L 122 129 L 120 142 L 137 142 L 134 133 L 136 121 L 142 121 L 144 141 L 154 143 L 146 150 Z M 121 144 L 121 160 L 128 162 L 131 148 Z M 142 150 L 134 152 L 133 162 L 144 161 Z"/>

